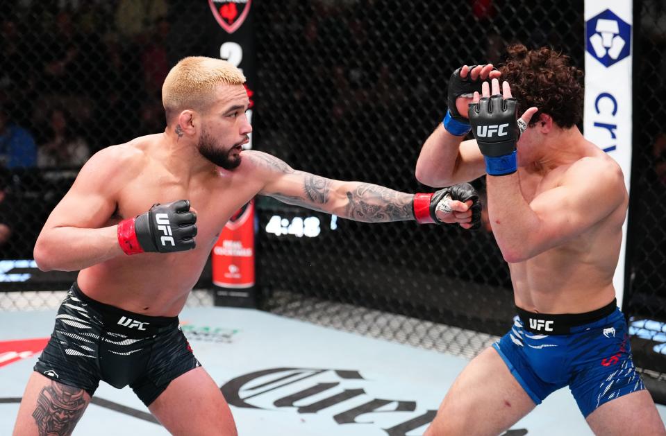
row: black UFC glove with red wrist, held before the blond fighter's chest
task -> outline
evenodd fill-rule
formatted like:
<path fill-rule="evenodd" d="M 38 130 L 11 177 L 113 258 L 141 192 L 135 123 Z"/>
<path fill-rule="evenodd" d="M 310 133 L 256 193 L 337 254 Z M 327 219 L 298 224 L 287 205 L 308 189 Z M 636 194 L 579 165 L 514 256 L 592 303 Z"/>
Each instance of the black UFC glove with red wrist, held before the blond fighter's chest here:
<path fill-rule="evenodd" d="M 153 204 L 146 213 L 118 223 L 118 243 L 125 254 L 192 250 L 197 246 L 196 223 L 188 200 Z"/>

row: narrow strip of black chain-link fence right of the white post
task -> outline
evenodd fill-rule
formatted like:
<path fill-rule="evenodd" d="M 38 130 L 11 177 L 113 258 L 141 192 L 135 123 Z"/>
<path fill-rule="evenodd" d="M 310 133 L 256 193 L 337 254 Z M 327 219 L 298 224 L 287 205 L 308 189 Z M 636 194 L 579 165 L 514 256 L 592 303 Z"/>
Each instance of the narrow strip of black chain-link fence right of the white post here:
<path fill-rule="evenodd" d="M 628 286 L 635 363 L 666 401 L 666 3 L 635 2 L 634 144 Z M 648 379 L 648 381 L 651 381 Z"/>

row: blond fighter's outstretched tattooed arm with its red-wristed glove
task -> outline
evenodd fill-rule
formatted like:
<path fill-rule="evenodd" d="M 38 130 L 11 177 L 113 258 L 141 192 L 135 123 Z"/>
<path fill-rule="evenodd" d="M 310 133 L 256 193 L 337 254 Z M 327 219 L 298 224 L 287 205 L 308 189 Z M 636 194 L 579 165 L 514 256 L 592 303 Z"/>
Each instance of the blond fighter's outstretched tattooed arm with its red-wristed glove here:
<path fill-rule="evenodd" d="M 414 195 L 376 184 L 342 182 L 295 171 L 280 159 L 263 152 L 245 152 L 244 155 L 251 159 L 257 172 L 266 180 L 259 194 L 288 204 L 366 223 L 414 219 L 419 223 L 433 223 L 438 220 L 460 223 L 467 229 L 472 227 L 470 222 L 478 222 L 478 197 L 469 184 Z"/>

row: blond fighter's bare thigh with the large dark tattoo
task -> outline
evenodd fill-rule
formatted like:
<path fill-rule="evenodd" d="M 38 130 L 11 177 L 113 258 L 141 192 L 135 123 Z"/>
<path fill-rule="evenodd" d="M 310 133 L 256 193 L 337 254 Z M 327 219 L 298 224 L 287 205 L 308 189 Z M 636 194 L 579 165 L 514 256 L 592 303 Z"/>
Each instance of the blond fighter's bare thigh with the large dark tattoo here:
<path fill-rule="evenodd" d="M 13 434 L 71 435 L 88 403 L 90 395 L 85 390 L 33 372 L 23 394 Z"/>

